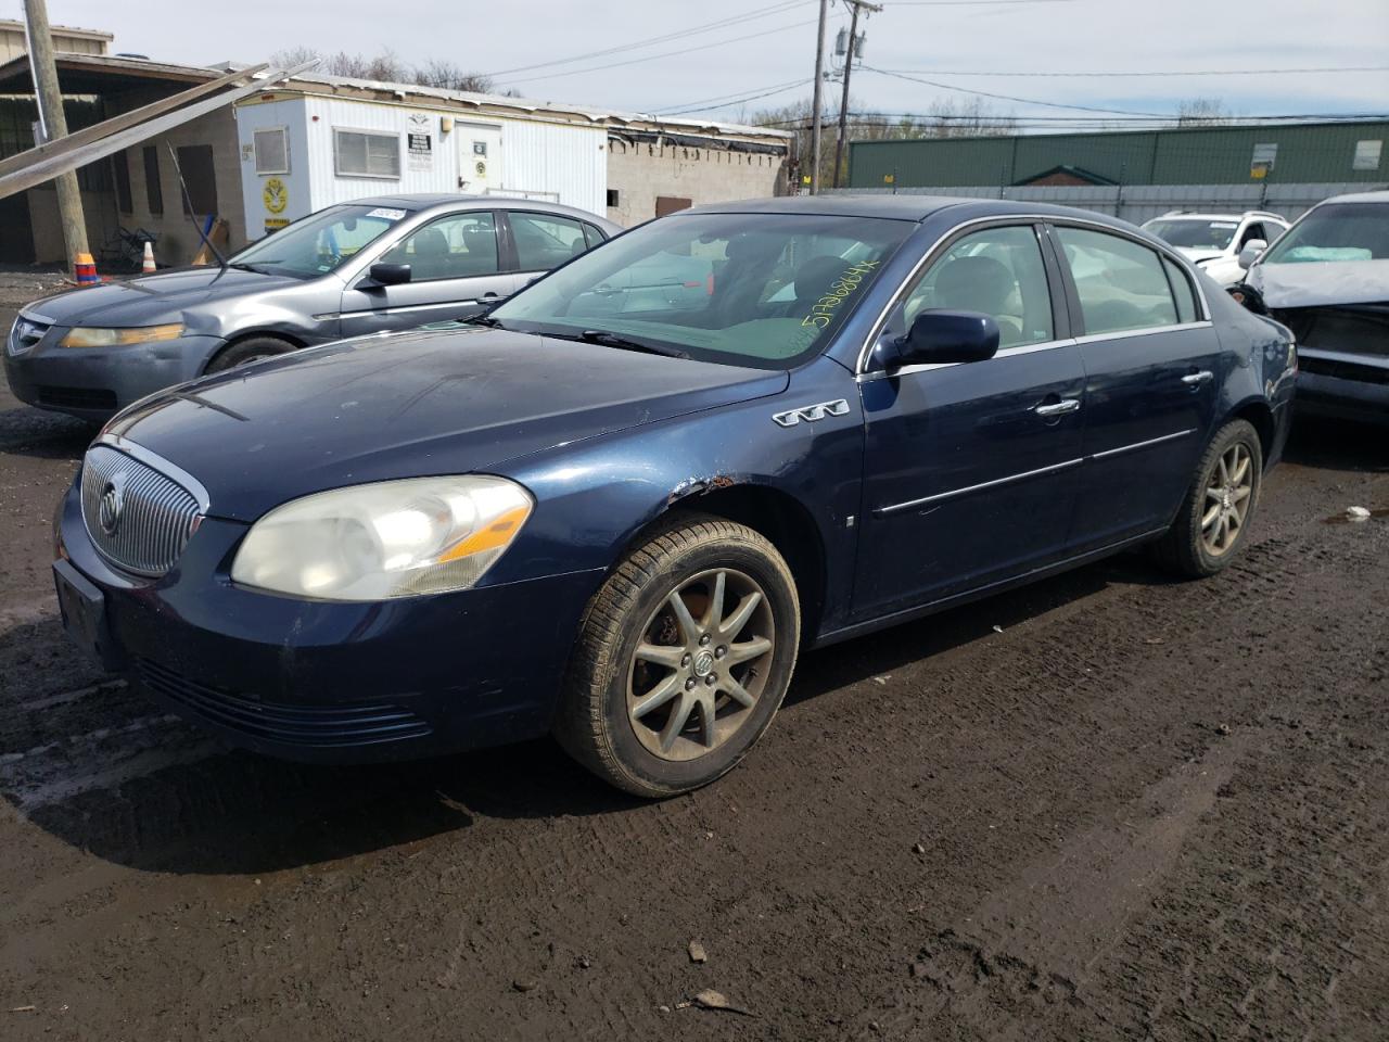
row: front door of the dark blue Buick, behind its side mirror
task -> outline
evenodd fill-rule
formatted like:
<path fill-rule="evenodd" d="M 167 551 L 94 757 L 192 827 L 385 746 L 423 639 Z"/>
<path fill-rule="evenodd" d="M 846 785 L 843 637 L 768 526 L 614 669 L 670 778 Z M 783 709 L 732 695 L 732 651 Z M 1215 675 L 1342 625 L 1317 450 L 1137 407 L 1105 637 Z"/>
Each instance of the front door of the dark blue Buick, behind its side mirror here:
<path fill-rule="evenodd" d="M 997 321 L 988 361 L 861 378 L 867 452 L 854 611 L 882 615 L 1022 575 L 1063 556 L 1081 465 L 1085 372 L 1057 315 L 1040 228 L 997 225 L 947 245 L 892 311 Z"/>

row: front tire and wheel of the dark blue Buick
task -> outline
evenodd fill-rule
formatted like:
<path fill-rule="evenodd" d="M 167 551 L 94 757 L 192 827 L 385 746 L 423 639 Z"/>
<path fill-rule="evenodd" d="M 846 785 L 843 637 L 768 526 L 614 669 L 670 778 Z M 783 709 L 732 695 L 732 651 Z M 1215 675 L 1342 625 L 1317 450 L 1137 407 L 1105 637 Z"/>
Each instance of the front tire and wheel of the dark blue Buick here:
<path fill-rule="evenodd" d="M 594 595 L 556 738 L 638 796 L 708 785 L 776 716 L 799 640 L 796 584 L 776 547 L 745 525 L 689 515 Z"/>

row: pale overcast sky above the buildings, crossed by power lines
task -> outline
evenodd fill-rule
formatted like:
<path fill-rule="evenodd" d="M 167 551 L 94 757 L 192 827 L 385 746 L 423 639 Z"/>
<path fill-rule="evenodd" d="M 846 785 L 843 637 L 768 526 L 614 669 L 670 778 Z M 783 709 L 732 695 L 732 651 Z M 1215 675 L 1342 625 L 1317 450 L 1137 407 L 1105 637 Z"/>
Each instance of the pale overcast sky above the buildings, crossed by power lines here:
<path fill-rule="evenodd" d="M 389 49 L 407 63 L 444 58 L 493 74 L 526 97 L 635 111 L 708 104 L 701 113 L 722 119 L 808 96 L 815 15 L 817 0 L 49 0 L 54 24 L 106 29 L 115 33 L 113 51 L 156 60 L 254 63 L 294 46 Z M 21 0 L 0 0 L 0 17 L 22 17 Z M 706 28 L 721 19 L 736 21 Z M 832 3 L 831 50 L 847 21 L 843 0 Z M 854 69 L 851 88 L 856 103 L 876 111 L 920 113 L 971 97 L 901 75 L 1132 113 L 1168 114 L 1197 96 L 1221 99 L 1239 115 L 1389 111 L 1383 69 L 1190 75 L 1386 67 L 1389 0 L 886 0 L 863 28 L 868 68 Z M 660 36 L 669 39 L 626 47 Z M 626 49 L 514 71 L 613 47 Z M 1118 71 L 1171 75 L 1000 75 Z M 725 100 L 736 103 L 713 107 Z M 1086 115 L 1018 100 L 989 104 L 1029 119 Z"/>

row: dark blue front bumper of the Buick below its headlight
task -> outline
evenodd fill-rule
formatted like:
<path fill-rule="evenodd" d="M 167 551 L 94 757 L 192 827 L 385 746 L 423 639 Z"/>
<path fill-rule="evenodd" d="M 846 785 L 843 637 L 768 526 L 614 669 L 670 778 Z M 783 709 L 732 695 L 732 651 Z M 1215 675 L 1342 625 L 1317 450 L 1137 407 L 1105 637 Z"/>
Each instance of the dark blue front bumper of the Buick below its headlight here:
<path fill-rule="evenodd" d="M 247 525 L 206 518 L 164 578 L 111 568 L 74 489 L 60 568 L 100 590 L 107 664 L 233 745 L 306 761 L 404 760 L 544 734 L 601 571 L 376 604 L 240 589 Z"/>

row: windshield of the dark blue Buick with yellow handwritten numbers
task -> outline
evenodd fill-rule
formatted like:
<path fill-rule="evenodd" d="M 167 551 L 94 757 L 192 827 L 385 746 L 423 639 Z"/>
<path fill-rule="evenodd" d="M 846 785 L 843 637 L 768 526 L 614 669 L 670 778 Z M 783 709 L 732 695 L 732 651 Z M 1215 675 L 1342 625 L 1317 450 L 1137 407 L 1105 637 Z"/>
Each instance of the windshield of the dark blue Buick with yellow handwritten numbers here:
<path fill-rule="evenodd" d="M 507 329 L 790 368 L 822 350 L 910 221 L 688 214 L 636 228 L 517 293 Z"/>

